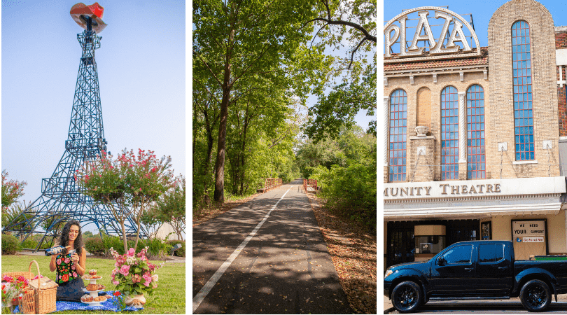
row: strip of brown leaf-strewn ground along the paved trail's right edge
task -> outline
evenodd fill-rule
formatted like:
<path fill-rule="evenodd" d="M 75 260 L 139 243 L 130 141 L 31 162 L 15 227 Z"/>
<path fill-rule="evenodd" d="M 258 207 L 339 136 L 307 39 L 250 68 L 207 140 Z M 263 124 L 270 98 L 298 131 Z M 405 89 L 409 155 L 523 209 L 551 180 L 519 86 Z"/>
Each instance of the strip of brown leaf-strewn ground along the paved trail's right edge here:
<path fill-rule="evenodd" d="M 377 314 L 376 234 L 363 232 L 359 223 L 332 214 L 318 197 L 308 196 L 351 307 Z"/>

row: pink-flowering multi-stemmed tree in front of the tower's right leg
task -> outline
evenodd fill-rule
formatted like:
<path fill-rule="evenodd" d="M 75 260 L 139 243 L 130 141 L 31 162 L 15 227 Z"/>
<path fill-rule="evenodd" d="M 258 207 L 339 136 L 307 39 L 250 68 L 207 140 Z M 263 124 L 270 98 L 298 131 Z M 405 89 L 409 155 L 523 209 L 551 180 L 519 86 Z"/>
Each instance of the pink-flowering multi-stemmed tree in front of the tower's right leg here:
<path fill-rule="evenodd" d="M 124 150 L 116 160 L 102 152 L 93 162 L 86 162 L 75 180 L 83 193 L 108 207 L 120 223 L 124 250 L 127 251 L 125 221 L 131 216 L 137 224 L 134 249 L 138 246 L 144 209 L 175 185 L 170 157 L 158 160 L 153 151 Z"/>

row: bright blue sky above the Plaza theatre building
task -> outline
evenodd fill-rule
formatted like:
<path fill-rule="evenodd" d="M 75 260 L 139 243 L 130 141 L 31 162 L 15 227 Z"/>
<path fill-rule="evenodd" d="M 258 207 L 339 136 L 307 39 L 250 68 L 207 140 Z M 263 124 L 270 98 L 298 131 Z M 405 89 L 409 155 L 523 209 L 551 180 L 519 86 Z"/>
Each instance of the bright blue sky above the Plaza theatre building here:
<path fill-rule="evenodd" d="M 406 1 L 384 1 L 384 22 L 382 26 L 386 25 L 388 20 L 391 20 L 402 13 L 402 10 L 418 8 L 420 6 L 449 6 L 449 10 L 459 15 L 472 14 L 472 20 L 475 23 L 475 33 L 479 39 L 482 47 L 488 45 L 488 24 L 492 13 L 494 13 L 500 6 L 507 1 L 505 0 L 466 0 L 466 1 L 447 1 L 447 0 L 406 0 Z M 567 26 L 567 1 L 539 1 L 547 10 L 552 14 L 555 26 Z M 435 31 L 433 31 L 435 33 Z M 407 34 L 413 36 L 413 31 L 407 31 Z M 434 34 L 435 38 L 439 34 Z M 411 38 L 409 38 L 411 40 Z M 384 47 L 384 45 L 382 45 Z M 384 48 L 382 48 L 384 52 Z"/>

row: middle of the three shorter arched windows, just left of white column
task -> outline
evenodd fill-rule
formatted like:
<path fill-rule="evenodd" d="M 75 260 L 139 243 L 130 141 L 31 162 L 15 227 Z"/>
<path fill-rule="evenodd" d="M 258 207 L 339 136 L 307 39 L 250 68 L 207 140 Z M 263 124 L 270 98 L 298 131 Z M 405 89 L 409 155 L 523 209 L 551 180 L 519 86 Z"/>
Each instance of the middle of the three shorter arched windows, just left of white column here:
<path fill-rule="evenodd" d="M 441 92 L 441 180 L 458 179 L 458 94 L 455 87 Z"/>

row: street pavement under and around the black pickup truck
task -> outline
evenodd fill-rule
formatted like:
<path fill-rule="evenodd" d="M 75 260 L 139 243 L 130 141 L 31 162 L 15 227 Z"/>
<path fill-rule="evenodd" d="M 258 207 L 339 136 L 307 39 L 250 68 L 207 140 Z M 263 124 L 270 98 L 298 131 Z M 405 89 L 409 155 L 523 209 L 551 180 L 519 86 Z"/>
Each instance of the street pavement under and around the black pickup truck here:
<path fill-rule="evenodd" d="M 552 304 L 546 313 L 567 314 L 567 294 L 557 295 L 558 302 L 555 302 L 555 296 L 552 297 Z M 443 302 L 428 302 L 419 307 L 416 313 L 482 313 L 482 314 L 502 314 L 502 313 L 528 313 L 518 297 L 510 300 L 454 300 Z M 396 311 L 384 296 L 384 314 L 400 314 Z"/>

